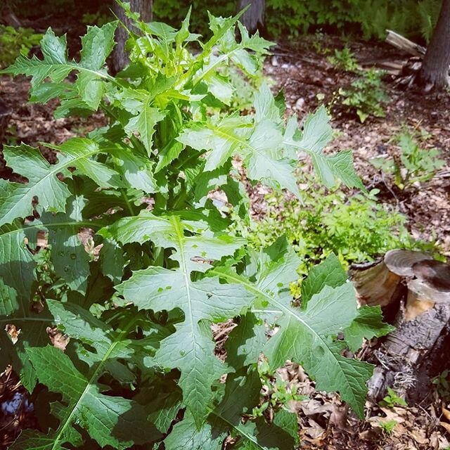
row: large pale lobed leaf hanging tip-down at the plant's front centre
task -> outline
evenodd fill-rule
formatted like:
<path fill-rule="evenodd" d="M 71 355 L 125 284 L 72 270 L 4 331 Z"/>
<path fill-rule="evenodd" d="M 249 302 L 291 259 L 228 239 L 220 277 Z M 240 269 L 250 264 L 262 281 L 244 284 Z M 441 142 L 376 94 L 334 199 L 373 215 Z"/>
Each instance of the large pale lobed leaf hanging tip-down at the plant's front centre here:
<path fill-rule="evenodd" d="M 248 307 L 250 295 L 238 285 L 219 283 L 219 278 L 191 280 L 191 272 L 206 271 L 211 267 L 210 260 L 232 255 L 243 240 L 215 238 L 207 233 L 185 236 L 187 230 L 192 232 L 193 227 L 176 216 L 155 217 L 145 212 L 120 220 L 114 227 L 120 242 L 150 239 L 160 247 L 174 248 L 176 253 L 171 259 L 179 263 L 179 268 L 136 271 L 117 290 L 139 309 L 184 311 L 184 321 L 176 326 L 176 333 L 161 342 L 155 361 L 180 369 L 184 403 L 200 428 L 212 400 L 211 385 L 228 371 L 214 356 L 209 323 L 240 314 Z"/>

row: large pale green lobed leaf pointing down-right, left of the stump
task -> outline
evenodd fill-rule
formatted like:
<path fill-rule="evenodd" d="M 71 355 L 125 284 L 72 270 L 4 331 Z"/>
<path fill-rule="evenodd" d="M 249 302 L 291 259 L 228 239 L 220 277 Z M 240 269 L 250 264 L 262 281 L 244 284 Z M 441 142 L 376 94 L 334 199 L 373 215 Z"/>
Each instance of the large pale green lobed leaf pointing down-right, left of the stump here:
<path fill-rule="evenodd" d="M 306 311 L 273 303 L 283 315 L 278 321 L 281 330 L 264 348 L 271 367 L 278 368 L 288 359 L 301 364 L 316 380 L 318 390 L 340 392 L 342 399 L 363 417 L 366 381 L 373 366 L 345 358 L 341 355 L 345 343 L 333 341 L 333 335 L 347 328 L 356 317 L 353 286 L 326 286 L 309 300 Z"/>

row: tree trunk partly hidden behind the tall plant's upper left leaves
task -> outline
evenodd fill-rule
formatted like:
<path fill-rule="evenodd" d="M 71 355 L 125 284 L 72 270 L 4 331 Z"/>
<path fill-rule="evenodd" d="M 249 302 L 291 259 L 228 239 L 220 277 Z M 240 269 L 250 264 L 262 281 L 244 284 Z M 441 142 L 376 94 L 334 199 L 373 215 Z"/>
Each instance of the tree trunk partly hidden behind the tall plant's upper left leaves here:
<path fill-rule="evenodd" d="M 143 22 L 151 22 L 153 0 L 129 0 L 129 4 L 131 6 L 131 11 L 141 15 L 141 20 L 143 20 Z M 132 28 L 130 20 L 125 17 L 123 9 L 116 2 L 114 2 L 113 10 L 125 27 L 128 29 Z M 136 29 L 133 31 L 136 32 Z M 119 25 L 115 33 L 117 43 L 113 52 L 112 70 L 114 73 L 120 72 L 129 63 L 128 56 L 125 51 L 125 42 L 127 41 L 127 37 L 127 30 L 125 30 L 122 25 Z"/>

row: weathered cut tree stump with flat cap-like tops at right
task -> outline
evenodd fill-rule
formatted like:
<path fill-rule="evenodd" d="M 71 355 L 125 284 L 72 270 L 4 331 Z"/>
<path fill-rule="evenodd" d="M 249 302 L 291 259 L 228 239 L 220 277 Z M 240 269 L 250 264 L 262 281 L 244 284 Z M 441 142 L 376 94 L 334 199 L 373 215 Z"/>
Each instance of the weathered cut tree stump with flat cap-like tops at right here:
<path fill-rule="evenodd" d="M 354 267 L 351 278 L 359 302 L 380 305 L 397 327 L 373 353 L 368 397 L 380 401 L 392 387 L 422 401 L 431 378 L 450 364 L 450 264 L 392 250 L 376 264 Z"/>

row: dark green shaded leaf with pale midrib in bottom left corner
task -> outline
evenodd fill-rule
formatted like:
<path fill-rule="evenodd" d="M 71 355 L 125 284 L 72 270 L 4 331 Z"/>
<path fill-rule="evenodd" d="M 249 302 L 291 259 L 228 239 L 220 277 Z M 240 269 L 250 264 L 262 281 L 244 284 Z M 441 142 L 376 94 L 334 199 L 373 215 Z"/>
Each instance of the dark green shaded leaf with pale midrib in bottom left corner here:
<path fill-rule="evenodd" d="M 103 359 L 108 355 L 103 354 Z M 158 431 L 147 422 L 143 406 L 123 397 L 101 393 L 95 379 L 104 361 L 86 378 L 73 366 L 69 356 L 55 347 L 29 348 L 27 356 L 39 381 L 49 386 L 51 391 L 62 394 L 63 403 L 67 406 L 60 408 L 54 404 L 53 413 L 60 423 L 47 438 L 40 432 L 20 435 L 11 450 L 34 449 L 38 445 L 42 450 L 59 450 L 65 448 L 65 442 L 80 445 L 82 436 L 77 427 L 84 428 L 101 446 L 111 445 L 115 449 L 127 449 L 133 442 L 142 444 L 158 438 Z"/>

